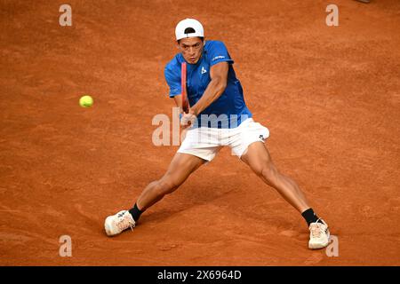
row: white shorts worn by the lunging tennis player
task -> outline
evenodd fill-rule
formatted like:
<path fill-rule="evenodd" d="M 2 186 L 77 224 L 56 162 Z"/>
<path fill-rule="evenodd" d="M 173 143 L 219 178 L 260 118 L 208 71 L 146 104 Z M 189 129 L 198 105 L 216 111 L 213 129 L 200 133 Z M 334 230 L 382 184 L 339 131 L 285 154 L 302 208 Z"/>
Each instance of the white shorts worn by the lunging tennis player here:
<path fill-rule="evenodd" d="M 246 119 L 236 128 L 218 129 L 199 127 L 189 129 L 178 153 L 193 154 L 208 162 L 223 146 L 229 146 L 232 154 L 239 158 L 253 142 L 264 142 L 269 137 L 269 130 L 252 118 Z"/>

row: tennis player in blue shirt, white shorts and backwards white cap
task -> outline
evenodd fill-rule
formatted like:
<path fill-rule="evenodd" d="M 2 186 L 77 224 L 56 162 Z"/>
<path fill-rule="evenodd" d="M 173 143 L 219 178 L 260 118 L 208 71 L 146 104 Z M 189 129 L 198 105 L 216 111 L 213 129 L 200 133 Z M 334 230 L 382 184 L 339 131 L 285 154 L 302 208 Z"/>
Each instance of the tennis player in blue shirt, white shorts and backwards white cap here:
<path fill-rule="evenodd" d="M 253 121 L 225 44 L 206 42 L 202 24 L 194 19 L 181 20 L 175 36 L 180 53 L 166 65 L 164 75 L 170 87 L 169 96 L 180 107 L 180 124 L 187 130 L 186 138 L 164 176 L 143 190 L 133 208 L 107 217 L 108 236 L 132 228 L 144 210 L 175 191 L 205 162 L 211 162 L 222 146 L 229 146 L 232 154 L 274 187 L 305 218 L 310 231 L 308 248 L 326 247 L 328 225 L 316 217 L 299 185 L 280 173 L 272 162 L 264 144 L 269 130 Z M 187 66 L 187 82 L 183 88 L 187 89 L 188 112 L 182 111 L 182 64 Z"/>

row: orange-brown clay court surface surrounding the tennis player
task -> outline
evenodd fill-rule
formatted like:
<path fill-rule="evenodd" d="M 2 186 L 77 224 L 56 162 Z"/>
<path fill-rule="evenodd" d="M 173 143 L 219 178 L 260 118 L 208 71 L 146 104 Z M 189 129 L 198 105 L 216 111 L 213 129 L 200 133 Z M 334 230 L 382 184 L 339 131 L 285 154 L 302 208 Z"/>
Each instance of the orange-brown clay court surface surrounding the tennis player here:
<path fill-rule="evenodd" d="M 0 1 L 0 264 L 400 264 L 399 1 L 68 1 L 72 27 L 61 4 Z M 106 237 L 178 149 L 152 144 L 151 121 L 172 117 L 164 65 L 188 17 L 228 46 L 273 160 L 339 256 L 309 250 L 300 214 L 228 149 Z"/>

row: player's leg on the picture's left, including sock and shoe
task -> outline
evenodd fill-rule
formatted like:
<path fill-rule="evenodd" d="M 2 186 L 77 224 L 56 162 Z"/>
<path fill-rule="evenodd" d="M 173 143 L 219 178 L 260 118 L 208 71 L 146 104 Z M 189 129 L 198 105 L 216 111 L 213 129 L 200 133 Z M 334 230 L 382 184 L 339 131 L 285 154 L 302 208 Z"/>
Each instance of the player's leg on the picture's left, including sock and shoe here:
<path fill-rule="evenodd" d="M 106 218 L 104 227 L 108 236 L 134 227 L 145 209 L 160 201 L 165 194 L 175 191 L 204 162 L 204 159 L 192 154 L 175 154 L 164 176 L 146 186 L 132 209 L 119 211 Z"/>

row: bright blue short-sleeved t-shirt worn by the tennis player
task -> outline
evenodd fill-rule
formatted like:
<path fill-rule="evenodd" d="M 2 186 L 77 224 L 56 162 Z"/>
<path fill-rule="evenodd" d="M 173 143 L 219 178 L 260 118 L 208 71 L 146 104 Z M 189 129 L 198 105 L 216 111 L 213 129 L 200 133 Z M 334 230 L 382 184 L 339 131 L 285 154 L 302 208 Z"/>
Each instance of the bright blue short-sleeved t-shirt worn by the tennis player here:
<path fill-rule="evenodd" d="M 210 106 L 197 115 L 195 127 L 235 128 L 252 117 L 252 113 L 244 103 L 242 85 L 236 78 L 232 66 L 234 60 L 229 56 L 224 43 L 220 41 L 206 41 L 202 57 L 196 64 L 187 64 L 187 89 L 190 106 L 203 96 L 205 89 L 211 82 L 210 68 L 220 62 L 228 62 L 227 88 Z M 185 62 L 181 53 L 177 54 L 165 66 L 165 80 L 170 87 L 169 96 L 180 95 L 180 69 Z"/>

